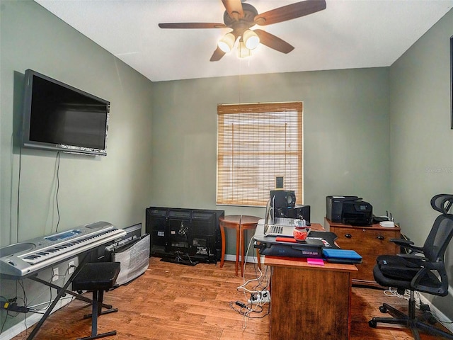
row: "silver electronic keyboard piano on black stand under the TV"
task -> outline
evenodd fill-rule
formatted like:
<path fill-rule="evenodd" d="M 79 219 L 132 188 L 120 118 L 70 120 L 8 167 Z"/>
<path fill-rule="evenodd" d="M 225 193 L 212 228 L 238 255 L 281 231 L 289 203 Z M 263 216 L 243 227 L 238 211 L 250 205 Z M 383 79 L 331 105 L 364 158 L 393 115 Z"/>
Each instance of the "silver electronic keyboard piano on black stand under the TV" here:
<path fill-rule="evenodd" d="M 0 274 L 24 277 L 71 259 L 84 251 L 125 236 L 108 222 L 95 222 L 47 237 L 37 237 L 0 249 Z"/>

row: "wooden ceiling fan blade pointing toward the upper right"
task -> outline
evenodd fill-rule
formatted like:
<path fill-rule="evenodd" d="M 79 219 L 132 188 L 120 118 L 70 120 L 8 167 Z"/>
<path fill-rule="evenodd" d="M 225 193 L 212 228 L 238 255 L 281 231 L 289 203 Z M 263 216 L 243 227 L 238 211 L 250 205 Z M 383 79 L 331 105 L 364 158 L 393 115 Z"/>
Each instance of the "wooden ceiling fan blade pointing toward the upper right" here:
<path fill-rule="evenodd" d="M 261 26 L 270 25 L 273 23 L 281 23 L 301 16 L 307 16 L 311 13 L 316 13 L 326 9 L 325 0 L 306 0 L 295 4 L 282 6 L 265 13 L 258 14 L 255 17 L 255 23 Z"/>

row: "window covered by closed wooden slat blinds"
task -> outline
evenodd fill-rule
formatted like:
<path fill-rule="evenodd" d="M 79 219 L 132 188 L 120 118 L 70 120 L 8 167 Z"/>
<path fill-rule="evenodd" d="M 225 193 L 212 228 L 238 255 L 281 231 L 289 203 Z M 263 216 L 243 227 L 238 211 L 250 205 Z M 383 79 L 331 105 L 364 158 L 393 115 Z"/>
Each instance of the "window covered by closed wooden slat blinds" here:
<path fill-rule="evenodd" d="M 275 189 L 302 200 L 302 102 L 217 106 L 217 204 L 263 206 Z"/>

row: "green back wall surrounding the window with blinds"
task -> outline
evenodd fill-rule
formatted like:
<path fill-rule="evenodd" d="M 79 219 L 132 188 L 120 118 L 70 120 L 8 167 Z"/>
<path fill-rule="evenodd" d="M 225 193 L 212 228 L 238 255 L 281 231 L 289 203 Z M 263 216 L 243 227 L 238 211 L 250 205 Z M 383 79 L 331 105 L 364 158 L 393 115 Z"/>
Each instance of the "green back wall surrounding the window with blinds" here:
<path fill-rule="evenodd" d="M 218 103 L 303 101 L 311 222 L 323 224 L 329 195 L 361 196 L 377 215 L 390 210 L 388 68 L 164 81 L 154 83 L 153 95 L 155 205 L 216 208 Z M 217 209 L 265 215 L 264 208 Z"/>

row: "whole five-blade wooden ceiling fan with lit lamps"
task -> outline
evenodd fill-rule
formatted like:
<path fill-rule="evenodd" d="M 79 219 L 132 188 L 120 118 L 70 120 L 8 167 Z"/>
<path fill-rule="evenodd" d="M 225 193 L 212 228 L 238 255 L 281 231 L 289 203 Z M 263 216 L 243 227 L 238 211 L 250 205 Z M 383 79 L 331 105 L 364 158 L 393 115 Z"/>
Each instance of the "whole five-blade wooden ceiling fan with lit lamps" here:
<path fill-rule="evenodd" d="M 243 0 L 245 1 L 245 0 Z M 265 30 L 251 30 L 250 28 L 259 25 L 271 25 L 281 23 L 301 16 L 307 16 L 326 9 L 325 0 L 305 0 L 295 4 L 272 9 L 265 13 L 258 14 L 255 7 L 241 0 L 222 0 L 226 9 L 224 23 L 159 23 L 160 28 L 231 28 L 229 33 L 219 40 L 217 49 L 212 54 L 211 62 L 216 62 L 229 52 L 236 40 L 239 38 L 239 47 L 250 51 L 259 43 L 266 45 L 273 50 L 282 53 L 289 53 L 294 50 L 288 42 Z"/>

